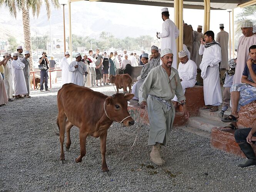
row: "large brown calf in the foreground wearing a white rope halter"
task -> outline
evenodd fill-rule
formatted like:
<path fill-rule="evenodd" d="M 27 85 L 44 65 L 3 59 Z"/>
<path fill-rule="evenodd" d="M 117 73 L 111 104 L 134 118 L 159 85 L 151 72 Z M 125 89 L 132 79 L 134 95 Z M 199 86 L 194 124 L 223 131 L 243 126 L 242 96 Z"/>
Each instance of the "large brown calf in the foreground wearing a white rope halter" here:
<path fill-rule="evenodd" d="M 123 123 L 125 126 L 134 124 L 134 120 L 127 111 L 127 101 L 133 96 L 133 94 L 121 93 L 107 96 L 73 83 L 64 84 L 57 95 L 60 162 L 63 164 L 66 162 L 63 151 L 65 130 L 67 133 L 65 147 L 68 151 L 71 145 L 70 129 L 72 126 L 77 126 L 79 127 L 80 156 L 75 158 L 75 162 L 81 162 L 86 154 L 87 136 L 100 137 L 101 168 L 104 175 L 110 175 L 105 160 L 107 130 L 113 121 Z"/>

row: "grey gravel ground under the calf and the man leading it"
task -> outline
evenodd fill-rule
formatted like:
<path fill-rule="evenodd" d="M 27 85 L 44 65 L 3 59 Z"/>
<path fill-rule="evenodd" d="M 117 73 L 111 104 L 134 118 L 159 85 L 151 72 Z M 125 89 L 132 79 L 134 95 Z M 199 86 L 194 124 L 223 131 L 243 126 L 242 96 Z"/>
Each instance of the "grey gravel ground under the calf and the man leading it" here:
<path fill-rule="evenodd" d="M 212 149 L 209 139 L 179 128 L 171 131 L 162 147 L 164 166 L 149 161 L 149 126 L 143 125 L 136 142 L 114 122 L 107 136 L 107 165 L 101 172 L 99 138 L 87 138 L 87 154 L 81 163 L 79 130 L 71 129 L 67 164 L 59 164 L 55 84 L 50 92 L 32 91 L 0 107 L 0 191 L 255 191 L 256 168 L 238 168 L 243 158 Z M 94 88 L 115 93 L 111 86 Z M 132 132 L 136 126 L 125 128 Z"/>

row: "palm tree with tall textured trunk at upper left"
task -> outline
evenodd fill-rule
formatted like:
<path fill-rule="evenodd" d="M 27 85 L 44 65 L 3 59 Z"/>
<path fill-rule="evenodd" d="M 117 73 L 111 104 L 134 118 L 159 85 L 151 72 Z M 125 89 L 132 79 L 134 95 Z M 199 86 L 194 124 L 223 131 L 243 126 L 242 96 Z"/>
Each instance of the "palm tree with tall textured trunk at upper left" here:
<path fill-rule="evenodd" d="M 55 8 L 59 8 L 59 0 L 51 0 Z M 44 0 L 47 17 L 50 18 L 50 3 L 49 0 Z M 39 15 L 40 8 L 42 7 L 42 0 L 0 0 L 0 7 L 5 5 L 10 11 L 10 14 L 17 17 L 17 10 L 22 11 L 23 31 L 25 40 L 25 49 L 31 53 L 31 35 L 30 35 L 30 17 L 29 10 L 32 10 L 32 14 Z M 30 69 L 33 69 L 33 56 L 30 56 Z"/>

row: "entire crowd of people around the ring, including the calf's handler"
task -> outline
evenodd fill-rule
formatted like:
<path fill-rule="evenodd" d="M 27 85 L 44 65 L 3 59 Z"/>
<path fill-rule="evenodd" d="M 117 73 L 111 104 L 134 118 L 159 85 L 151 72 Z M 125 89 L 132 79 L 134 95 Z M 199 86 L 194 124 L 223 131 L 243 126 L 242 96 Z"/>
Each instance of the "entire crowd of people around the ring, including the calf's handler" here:
<path fill-rule="evenodd" d="M 114 75 L 116 69 L 124 69 L 127 64 L 143 65 L 141 74 L 132 88 L 134 98 L 130 102 L 139 102 L 142 108 L 147 107 L 150 122 L 148 145 L 152 146 L 150 160 L 157 165 L 165 163 L 160 155 L 160 148 L 161 145 L 167 145 L 178 105 L 182 105 L 184 117 L 189 118 L 184 94 L 186 88 L 196 84 L 197 71 L 201 72 L 204 84 L 205 106 L 201 109 L 215 112 L 223 103 L 219 116 L 221 121 L 230 123 L 221 129 L 223 131 L 238 129 L 236 122 L 239 118 L 239 109 L 256 100 L 256 83 L 254 83 L 256 82 L 256 31 L 252 22 L 242 22 L 243 36 L 239 38 L 237 58 L 228 61 L 228 33 L 224 31 L 223 24 L 219 25 L 221 31 L 217 34 L 215 41 L 213 31 L 202 34 L 202 26 L 198 25 L 197 31 L 193 31 L 191 26 L 184 23 L 183 50 L 176 54 L 176 38 L 179 36 L 179 29 L 169 19 L 168 8 L 163 8 L 161 15 L 164 21 L 162 33 L 156 34 L 157 38 L 161 39 L 161 50 L 152 45 L 151 56 L 142 53 L 139 57 L 136 52 L 128 55 L 126 49 L 123 55 L 118 55 L 117 51 L 107 55 L 107 53 L 101 54 L 100 49 L 97 48 L 95 53 L 89 50 L 89 55 L 80 55 L 80 53 L 75 55 L 75 61 L 71 63 L 68 62 L 69 52 L 65 52 L 65 57 L 60 64 L 62 84 L 74 83 L 80 86 L 107 85 L 109 74 Z M 7 98 L 3 96 L 0 104 L 6 103 L 7 99 L 12 101 L 13 94 L 16 99 L 30 97 L 28 86 L 30 54 L 24 51 L 23 56 L 22 51 L 22 47 L 18 47 L 13 58 L 5 53 L 5 58 L 0 63 L 7 68 L 3 77 L 4 81 L 8 81 L 3 84 L 1 76 L 0 89 L 6 89 Z M 176 63 L 177 57 L 180 61 L 179 65 Z M 40 91 L 44 89 L 43 81 L 47 91 L 47 69 L 50 61 L 45 52 L 39 58 L 39 64 L 41 65 Z M 219 78 L 220 69 L 227 70 L 221 79 L 224 83 L 223 96 Z M 13 91 L 12 82 L 8 79 L 13 79 Z M 223 118 L 230 104 L 231 115 Z M 252 128 L 236 130 L 235 139 L 248 157 L 248 161 L 238 166 L 256 165 L 256 156 L 250 145 L 256 141 L 256 123 Z"/>

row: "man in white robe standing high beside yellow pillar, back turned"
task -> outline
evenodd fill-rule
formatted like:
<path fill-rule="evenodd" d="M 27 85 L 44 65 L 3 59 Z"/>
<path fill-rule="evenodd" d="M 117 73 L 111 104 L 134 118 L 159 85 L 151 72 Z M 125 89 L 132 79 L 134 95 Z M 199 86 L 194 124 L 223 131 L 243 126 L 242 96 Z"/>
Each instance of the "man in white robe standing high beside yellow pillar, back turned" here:
<path fill-rule="evenodd" d="M 173 53 L 173 62 L 172 67 L 177 69 L 177 48 L 176 48 L 176 39 L 179 36 L 179 29 L 169 19 L 168 8 L 162 8 L 162 19 L 164 23 L 162 24 L 162 33 L 156 33 L 157 38 L 162 38 L 161 49 L 170 48 Z"/>

